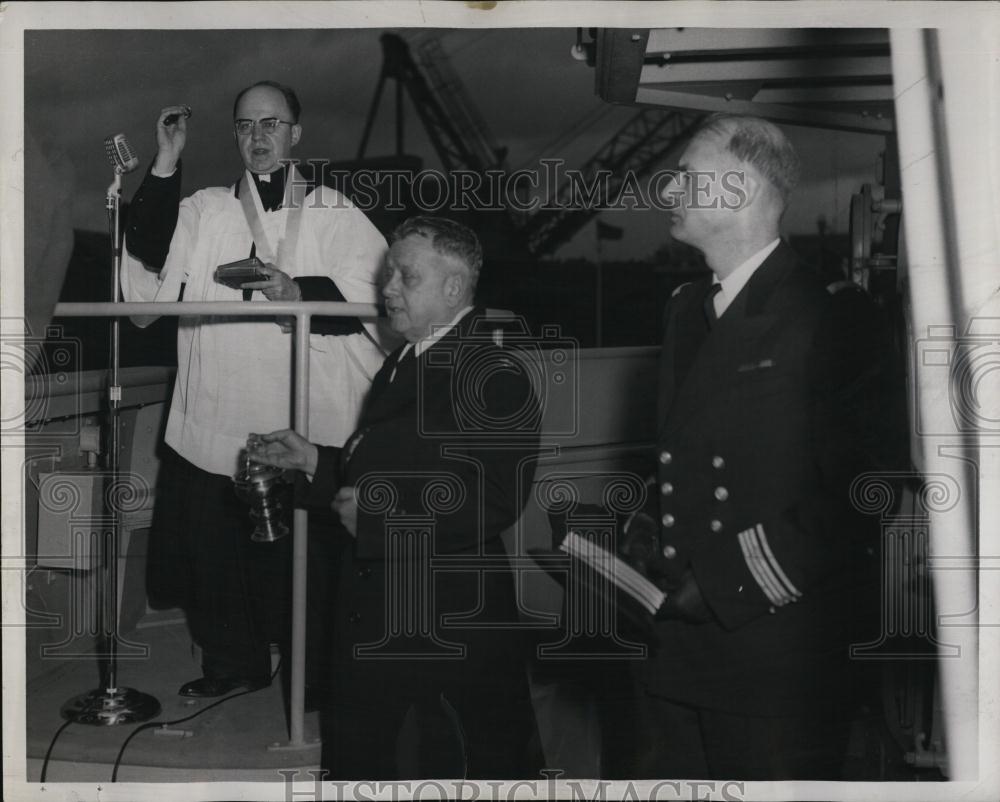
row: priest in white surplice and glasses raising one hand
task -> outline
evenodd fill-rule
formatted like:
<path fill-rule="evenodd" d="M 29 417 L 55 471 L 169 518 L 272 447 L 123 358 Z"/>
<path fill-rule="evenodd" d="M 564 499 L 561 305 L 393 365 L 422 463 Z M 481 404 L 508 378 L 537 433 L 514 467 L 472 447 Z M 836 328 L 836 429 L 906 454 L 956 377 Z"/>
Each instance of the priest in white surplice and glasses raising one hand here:
<path fill-rule="evenodd" d="M 240 92 L 233 135 L 243 174 L 231 186 L 182 201 L 180 154 L 189 114 L 169 106 L 157 119 L 157 157 L 126 224 L 125 299 L 376 303 L 385 240 L 344 196 L 307 183 L 290 163 L 302 135 L 295 93 L 273 82 Z M 264 280 L 238 289 L 214 280 L 217 266 L 250 256 L 264 263 Z M 149 592 L 156 606 L 184 609 L 201 647 L 204 676 L 186 683 L 184 696 L 266 685 L 269 643 L 287 635 L 287 540 L 251 543 L 253 524 L 231 481 L 249 432 L 291 424 L 293 335 L 287 329 L 259 317 L 178 322 Z M 312 440 L 343 445 L 384 345 L 373 321 L 314 319 Z"/>

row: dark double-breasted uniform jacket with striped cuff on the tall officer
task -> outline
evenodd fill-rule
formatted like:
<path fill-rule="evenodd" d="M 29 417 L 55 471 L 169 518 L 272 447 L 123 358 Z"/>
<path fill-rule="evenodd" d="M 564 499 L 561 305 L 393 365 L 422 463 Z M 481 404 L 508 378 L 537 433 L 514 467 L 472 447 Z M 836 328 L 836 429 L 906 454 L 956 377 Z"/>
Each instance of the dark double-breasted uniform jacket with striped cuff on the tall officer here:
<path fill-rule="evenodd" d="M 667 307 L 656 483 L 667 584 L 693 573 L 713 620 L 657 623 L 652 693 L 747 715 L 837 704 L 868 467 L 865 360 L 823 283 L 784 244 L 709 329 L 706 279 Z M 872 410 L 867 410 L 872 412 Z"/>

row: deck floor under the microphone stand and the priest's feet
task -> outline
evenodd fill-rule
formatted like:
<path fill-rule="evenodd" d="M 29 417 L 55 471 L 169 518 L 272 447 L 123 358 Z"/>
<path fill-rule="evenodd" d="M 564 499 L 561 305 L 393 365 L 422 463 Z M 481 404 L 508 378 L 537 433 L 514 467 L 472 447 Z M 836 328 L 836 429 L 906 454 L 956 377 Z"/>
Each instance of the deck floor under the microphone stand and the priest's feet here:
<path fill-rule="evenodd" d="M 285 705 L 281 683 L 239 695 L 214 707 L 216 699 L 185 699 L 180 686 L 201 675 L 183 621 L 140 628 L 129 640 L 148 646 L 148 656 L 121 660 L 118 684 L 151 694 L 160 702 L 154 720 L 188 721 L 145 730 L 128 744 L 118 772 L 120 781 L 191 781 L 197 779 L 270 779 L 280 782 L 278 769 L 319 765 L 319 714 L 305 715 L 300 749 L 287 745 Z M 275 657 L 275 659 L 277 659 Z M 73 697 L 99 685 L 96 660 L 54 662 L 51 669 L 27 687 L 28 779 L 40 779 L 41 763 L 53 736 L 64 723 L 61 709 Z M 199 711 L 204 711 L 200 715 Z M 70 724 L 52 749 L 46 779 L 49 782 L 109 782 L 118 752 L 140 725 L 92 726 Z M 103 775 L 103 776 L 102 776 Z"/>

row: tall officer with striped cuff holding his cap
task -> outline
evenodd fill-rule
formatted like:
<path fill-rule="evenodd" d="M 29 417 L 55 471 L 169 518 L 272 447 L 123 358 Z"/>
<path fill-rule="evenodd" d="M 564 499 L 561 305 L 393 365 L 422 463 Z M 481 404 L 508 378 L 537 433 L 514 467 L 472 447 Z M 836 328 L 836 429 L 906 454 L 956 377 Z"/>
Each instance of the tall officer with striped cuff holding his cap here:
<path fill-rule="evenodd" d="M 851 352 L 850 308 L 778 236 L 798 175 L 780 129 L 713 116 L 679 167 L 670 231 L 712 276 L 668 303 L 657 475 L 629 524 L 656 539 L 668 589 L 638 671 L 636 771 L 835 779 L 877 349 Z"/>

